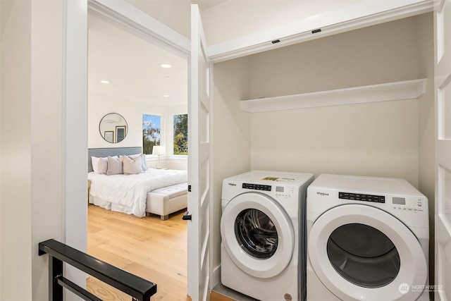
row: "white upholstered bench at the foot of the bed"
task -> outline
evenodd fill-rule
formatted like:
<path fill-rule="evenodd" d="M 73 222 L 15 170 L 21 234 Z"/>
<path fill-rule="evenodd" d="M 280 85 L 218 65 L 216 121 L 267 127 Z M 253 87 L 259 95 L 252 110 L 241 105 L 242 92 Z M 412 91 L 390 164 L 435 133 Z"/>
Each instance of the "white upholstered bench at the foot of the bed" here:
<path fill-rule="evenodd" d="M 187 207 L 188 184 L 180 183 L 171 185 L 147 193 L 146 212 L 157 214 L 164 221 L 169 214 Z"/>

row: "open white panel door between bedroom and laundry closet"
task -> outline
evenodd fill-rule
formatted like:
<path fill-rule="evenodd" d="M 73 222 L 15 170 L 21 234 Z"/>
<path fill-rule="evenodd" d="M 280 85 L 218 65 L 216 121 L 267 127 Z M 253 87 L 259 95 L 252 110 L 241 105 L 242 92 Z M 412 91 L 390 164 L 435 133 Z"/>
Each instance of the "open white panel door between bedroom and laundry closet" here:
<path fill-rule="evenodd" d="M 199 8 L 191 6 L 191 99 L 189 102 L 188 295 L 209 299 L 210 280 L 210 65 Z"/>

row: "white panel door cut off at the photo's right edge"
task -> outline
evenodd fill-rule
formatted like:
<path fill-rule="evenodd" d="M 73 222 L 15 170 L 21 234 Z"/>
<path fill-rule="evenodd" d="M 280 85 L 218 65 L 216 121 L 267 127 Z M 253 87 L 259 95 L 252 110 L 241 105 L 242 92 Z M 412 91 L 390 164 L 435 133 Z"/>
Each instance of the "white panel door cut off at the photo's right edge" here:
<path fill-rule="evenodd" d="M 435 0 L 435 300 L 451 300 L 451 0 Z"/>

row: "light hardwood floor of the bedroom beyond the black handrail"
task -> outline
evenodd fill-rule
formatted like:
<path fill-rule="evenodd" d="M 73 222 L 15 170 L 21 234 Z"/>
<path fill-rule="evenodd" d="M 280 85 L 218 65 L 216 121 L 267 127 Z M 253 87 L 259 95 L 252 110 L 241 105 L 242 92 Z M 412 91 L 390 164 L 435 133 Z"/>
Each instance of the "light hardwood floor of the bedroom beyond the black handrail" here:
<path fill-rule="evenodd" d="M 187 222 L 184 211 L 142 219 L 88 206 L 87 253 L 156 283 L 151 300 L 187 301 Z M 102 300 L 130 300 L 97 279 L 87 279 L 87 290 Z"/>

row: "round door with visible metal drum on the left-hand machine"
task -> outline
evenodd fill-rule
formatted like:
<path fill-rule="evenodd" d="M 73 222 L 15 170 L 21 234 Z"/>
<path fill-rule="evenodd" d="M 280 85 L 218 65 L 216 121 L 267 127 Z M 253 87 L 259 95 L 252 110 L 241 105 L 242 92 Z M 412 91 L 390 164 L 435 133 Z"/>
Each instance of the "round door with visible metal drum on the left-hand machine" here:
<path fill-rule="evenodd" d="M 288 214 L 273 198 L 254 192 L 228 202 L 221 217 L 221 237 L 236 266 L 258 278 L 280 274 L 295 249 Z"/>

